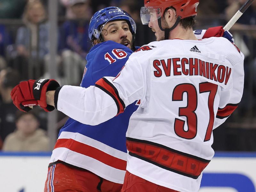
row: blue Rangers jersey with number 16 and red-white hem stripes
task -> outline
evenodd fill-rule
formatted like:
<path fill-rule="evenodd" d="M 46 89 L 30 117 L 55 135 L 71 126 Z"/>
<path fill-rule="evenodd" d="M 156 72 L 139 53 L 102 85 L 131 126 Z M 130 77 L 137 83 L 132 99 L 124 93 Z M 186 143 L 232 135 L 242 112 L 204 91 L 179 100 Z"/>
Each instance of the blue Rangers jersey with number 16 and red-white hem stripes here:
<path fill-rule="evenodd" d="M 86 57 L 81 86 L 95 85 L 103 76 L 117 76 L 131 54 L 131 49 L 113 41 L 93 46 Z M 138 108 L 137 103 L 96 126 L 69 118 L 60 130 L 50 163 L 60 160 L 122 184 L 127 160 L 125 133 L 130 116 Z"/>

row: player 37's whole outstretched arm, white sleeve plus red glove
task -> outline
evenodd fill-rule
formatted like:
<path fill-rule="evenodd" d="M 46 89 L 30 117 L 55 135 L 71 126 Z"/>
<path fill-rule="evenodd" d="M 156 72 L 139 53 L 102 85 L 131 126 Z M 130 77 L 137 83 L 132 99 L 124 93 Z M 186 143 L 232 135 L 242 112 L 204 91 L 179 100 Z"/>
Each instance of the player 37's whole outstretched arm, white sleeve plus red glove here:
<path fill-rule="evenodd" d="M 25 112 L 34 105 L 46 111 L 55 106 L 76 121 L 96 125 L 123 113 L 126 106 L 143 98 L 144 77 L 141 65 L 130 57 L 118 77 L 101 78 L 95 86 L 60 87 L 52 79 L 29 80 L 17 85 L 11 97 L 15 106 Z"/>

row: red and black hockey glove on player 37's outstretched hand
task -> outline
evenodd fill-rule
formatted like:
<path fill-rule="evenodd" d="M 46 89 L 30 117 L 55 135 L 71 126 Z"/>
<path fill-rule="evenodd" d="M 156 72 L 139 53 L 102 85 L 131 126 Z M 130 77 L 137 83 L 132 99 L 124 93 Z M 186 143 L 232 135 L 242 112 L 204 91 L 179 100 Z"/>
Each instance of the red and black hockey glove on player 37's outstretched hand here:
<path fill-rule="evenodd" d="M 39 79 L 22 81 L 11 92 L 13 104 L 21 111 L 28 112 L 29 106 L 39 105 L 46 112 L 53 111 L 54 107 L 47 105 L 46 92 L 60 87 L 54 79 Z"/>

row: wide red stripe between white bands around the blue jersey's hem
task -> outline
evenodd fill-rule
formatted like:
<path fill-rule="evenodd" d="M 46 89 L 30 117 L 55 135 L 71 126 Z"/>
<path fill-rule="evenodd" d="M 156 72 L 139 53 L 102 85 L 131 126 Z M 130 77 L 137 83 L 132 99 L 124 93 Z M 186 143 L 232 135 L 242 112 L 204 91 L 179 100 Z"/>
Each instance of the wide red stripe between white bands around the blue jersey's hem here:
<path fill-rule="evenodd" d="M 97 148 L 80 143 L 72 139 L 58 139 L 54 148 L 68 148 L 77 153 L 85 156 L 92 157 L 108 166 L 114 167 L 120 170 L 126 170 L 126 161 L 117 157 L 111 156 Z"/>

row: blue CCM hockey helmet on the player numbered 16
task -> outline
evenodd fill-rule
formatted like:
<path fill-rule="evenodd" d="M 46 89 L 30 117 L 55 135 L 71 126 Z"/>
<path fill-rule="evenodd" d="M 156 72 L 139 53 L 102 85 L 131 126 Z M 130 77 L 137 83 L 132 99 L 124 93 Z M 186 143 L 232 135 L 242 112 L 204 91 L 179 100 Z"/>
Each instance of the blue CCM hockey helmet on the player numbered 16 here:
<path fill-rule="evenodd" d="M 106 7 L 97 11 L 92 16 L 89 26 L 89 38 L 92 40 L 92 35 L 96 38 L 100 38 L 100 34 L 102 31 L 102 26 L 108 23 L 109 21 L 114 20 L 125 20 L 130 26 L 130 31 L 134 35 L 136 33 L 136 24 L 132 17 L 125 12 L 124 10 L 118 7 Z"/>

